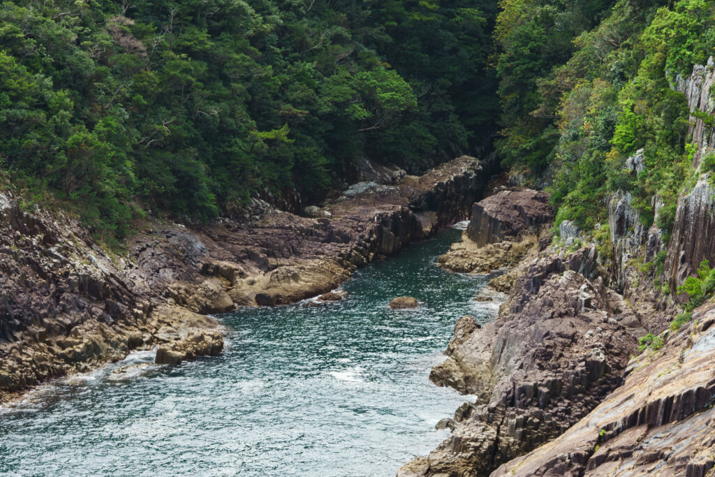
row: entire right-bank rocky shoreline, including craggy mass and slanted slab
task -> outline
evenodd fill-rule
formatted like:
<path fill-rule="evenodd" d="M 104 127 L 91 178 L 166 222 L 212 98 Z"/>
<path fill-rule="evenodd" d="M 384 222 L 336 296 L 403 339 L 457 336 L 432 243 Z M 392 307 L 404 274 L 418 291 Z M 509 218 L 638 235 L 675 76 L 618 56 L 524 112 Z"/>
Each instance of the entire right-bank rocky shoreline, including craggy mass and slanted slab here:
<path fill-rule="evenodd" d="M 664 332 L 679 307 L 654 280 L 641 280 L 651 269 L 637 266 L 638 257 L 652 259 L 667 246 L 649 239 L 655 226 L 646 232 L 627 197 L 614 198 L 613 256 L 602 259 L 593 238 L 570 223 L 553 239 L 552 219 L 538 212 L 532 192 L 523 193 L 531 216 L 506 206 L 513 191 L 475 205 L 470 233 L 440 257 L 460 272 L 511 267 L 502 275 L 508 280 L 493 280 L 510 291 L 493 322 L 458 320 L 430 380 L 477 400 L 455 412 L 446 441 L 398 476 L 711 475 L 713 306 L 696 310 L 678 333 Z M 679 250 L 694 250 L 698 260 L 707 255 L 692 231 L 709 222 L 690 210 L 692 195 L 681 197 L 677 240 L 665 249 L 681 257 L 679 275 L 666 261 L 671 287 L 693 267 Z M 711 205 L 701 199 L 699 207 Z M 544 227 L 535 228 L 536 217 Z M 664 348 L 639 347 L 648 333 Z"/>

